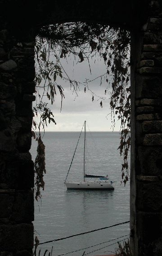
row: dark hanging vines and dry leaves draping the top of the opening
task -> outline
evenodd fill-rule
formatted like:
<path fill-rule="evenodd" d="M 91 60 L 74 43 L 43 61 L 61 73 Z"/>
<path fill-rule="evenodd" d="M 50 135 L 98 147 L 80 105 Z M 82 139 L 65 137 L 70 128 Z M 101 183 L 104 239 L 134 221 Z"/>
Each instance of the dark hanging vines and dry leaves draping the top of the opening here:
<path fill-rule="evenodd" d="M 60 52 L 57 54 L 58 47 Z M 40 29 L 36 38 L 36 95 L 37 104 L 33 108 L 34 117 L 38 117 L 39 122 L 36 119 L 33 120 L 33 128 L 39 130 L 38 137 L 40 137 L 40 128 L 45 131 L 45 126 L 48 123 L 53 122 L 54 114 L 49 108 L 47 103 L 43 102 L 43 97 L 47 96 L 51 104 L 54 103 L 57 95 L 57 90 L 61 95 L 61 109 L 62 102 L 65 95 L 63 93 L 63 87 L 58 85 L 58 76 L 61 79 L 68 81 L 77 96 L 77 90 L 81 90 L 81 85 L 84 86 L 84 91 L 90 90 L 88 83 L 91 81 L 72 81 L 67 75 L 60 59 L 67 58 L 72 54 L 78 58 L 78 62 L 83 62 L 91 57 L 95 57 L 97 54 L 103 59 L 105 63 L 105 72 L 100 76 L 101 83 L 104 77 L 108 86 L 104 90 L 104 95 L 108 93 L 108 89 L 112 86 L 110 93 L 110 108 L 111 108 L 111 120 L 112 128 L 115 126 L 115 116 L 121 120 L 121 140 L 120 140 L 120 155 L 123 155 L 122 164 L 122 181 L 126 185 L 126 181 L 129 177 L 128 172 L 128 152 L 130 148 L 130 74 L 129 74 L 129 52 L 130 52 L 130 33 L 121 28 L 112 28 L 107 24 L 88 24 L 88 23 L 65 23 L 55 24 L 51 26 L 45 26 Z M 54 60 L 50 61 L 49 56 L 53 53 Z M 66 77 L 63 77 L 63 72 Z M 100 83 L 100 85 L 101 85 Z M 42 85 L 43 84 L 43 85 Z M 41 89 L 41 93 L 40 93 Z M 92 101 L 94 101 L 94 92 Z M 95 95 L 97 96 L 97 95 Z M 103 108 L 103 98 L 100 98 L 100 106 Z M 38 147 L 39 145 L 38 139 Z M 42 143 L 42 141 L 41 141 Z M 42 145 L 42 144 L 41 144 Z M 40 149 L 37 149 L 38 155 L 36 159 L 36 187 L 37 195 L 36 199 L 40 196 L 40 187 L 43 186 L 43 171 L 42 164 L 39 167 L 39 153 Z M 42 153 L 42 156 L 44 153 Z M 43 158 L 43 164 L 45 160 Z M 41 175 L 40 175 L 41 173 Z M 39 176 L 40 175 L 40 176 Z M 38 178 L 40 177 L 40 180 Z M 125 178 L 124 178 L 125 177 Z M 42 185 L 43 184 L 43 185 Z"/>

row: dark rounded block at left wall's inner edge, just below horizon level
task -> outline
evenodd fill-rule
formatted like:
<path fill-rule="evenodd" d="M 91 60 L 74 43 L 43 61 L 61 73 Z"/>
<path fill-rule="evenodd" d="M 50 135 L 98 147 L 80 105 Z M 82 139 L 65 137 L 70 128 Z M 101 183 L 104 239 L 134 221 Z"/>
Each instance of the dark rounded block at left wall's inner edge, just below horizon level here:
<path fill-rule="evenodd" d="M 18 133 L 17 146 L 20 152 L 27 152 L 31 148 L 31 132 Z"/>

